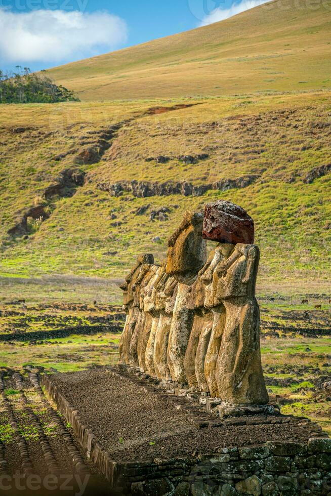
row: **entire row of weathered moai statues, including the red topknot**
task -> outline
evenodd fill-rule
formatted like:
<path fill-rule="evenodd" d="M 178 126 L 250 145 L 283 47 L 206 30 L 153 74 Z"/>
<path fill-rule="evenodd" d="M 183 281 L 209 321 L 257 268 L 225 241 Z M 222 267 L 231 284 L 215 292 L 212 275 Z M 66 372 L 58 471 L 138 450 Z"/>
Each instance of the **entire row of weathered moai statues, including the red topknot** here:
<path fill-rule="evenodd" d="M 209 256 L 206 239 L 218 243 Z M 139 256 L 121 286 L 120 361 L 228 404 L 267 404 L 253 243 L 253 219 L 234 203 L 186 212 L 167 260 Z"/>

